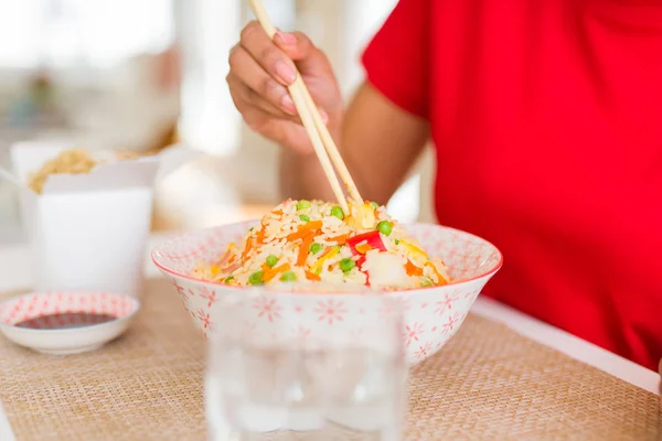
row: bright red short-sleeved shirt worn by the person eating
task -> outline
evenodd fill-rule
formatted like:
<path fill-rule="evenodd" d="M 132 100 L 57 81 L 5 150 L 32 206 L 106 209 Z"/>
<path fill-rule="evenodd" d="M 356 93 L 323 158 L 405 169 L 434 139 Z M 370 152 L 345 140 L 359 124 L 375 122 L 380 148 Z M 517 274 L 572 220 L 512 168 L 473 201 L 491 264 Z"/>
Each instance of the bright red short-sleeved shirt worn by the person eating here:
<path fill-rule="evenodd" d="M 402 0 L 367 78 L 426 118 L 444 225 L 485 294 L 651 369 L 662 357 L 662 3 Z"/>

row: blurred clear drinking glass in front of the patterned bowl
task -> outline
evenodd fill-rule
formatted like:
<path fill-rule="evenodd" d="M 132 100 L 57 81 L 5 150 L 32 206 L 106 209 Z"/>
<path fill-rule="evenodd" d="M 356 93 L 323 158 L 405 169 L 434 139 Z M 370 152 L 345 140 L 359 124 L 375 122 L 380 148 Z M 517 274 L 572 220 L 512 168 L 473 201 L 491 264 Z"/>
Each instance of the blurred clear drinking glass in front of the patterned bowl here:
<path fill-rule="evenodd" d="M 215 441 L 402 439 L 402 313 L 377 294 L 243 291 L 212 311 Z"/>

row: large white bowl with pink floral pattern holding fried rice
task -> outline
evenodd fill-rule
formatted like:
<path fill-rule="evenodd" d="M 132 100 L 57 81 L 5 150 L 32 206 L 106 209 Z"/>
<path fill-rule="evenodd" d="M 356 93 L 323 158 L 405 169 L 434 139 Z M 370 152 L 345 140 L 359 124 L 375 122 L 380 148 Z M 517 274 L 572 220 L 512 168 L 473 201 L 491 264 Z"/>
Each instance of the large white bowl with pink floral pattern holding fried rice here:
<path fill-rule="evenodd" d="M 161 244 L 152 251 L 152 260 L 171 281 L 184 308 L 205 336 L 213 332 L 217 321 L 217 300 L 236 293 L 237 287 L 206 282 L 191 276 L 199 260 L 214 262 L 225 247 L 239 243 L 248 228 L 258 222 L 229 224 L 183 234 Z M 458 229 L 431 224 L 405 225 L 435 258 L 448 266 L 451 278 L 459 279 L 442 287 L 385 293 L 397 308 L 405 311 L 407 362 L 415 364 L 439 351 L 460 327 L 476 298 L 485 283 L 501 268 L 499 249 L 487 240 Z M 241 290 L 241 288 L 239 288 Z M 256 305 L 256 326 L 286 315 L 284 305 Z M 292 306 L 290 306 L 292 308 Z M 298 316 L 308 319 L 310 332 L 323 332 L 328 326 L 345 326 L 361 322 L 360 302 L 349 302 L 341 294 L 301 295 L 293 305 Z M 276 312 L 275 312 L 276 311 Z"/>

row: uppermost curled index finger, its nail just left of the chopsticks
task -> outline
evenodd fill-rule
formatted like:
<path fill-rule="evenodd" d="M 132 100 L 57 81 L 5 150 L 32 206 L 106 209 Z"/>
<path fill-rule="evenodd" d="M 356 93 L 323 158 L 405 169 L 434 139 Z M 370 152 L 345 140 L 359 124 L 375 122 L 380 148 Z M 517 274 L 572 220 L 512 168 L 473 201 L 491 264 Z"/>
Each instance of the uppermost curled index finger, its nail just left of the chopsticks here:
<path fill-rule="evenodd" d="M 297 78 L 295 63 L 274 44 L 258 22 L 250 22 L 244 28 L 239 44 L 268 75 L 284 86 L 291 85 Z"/>

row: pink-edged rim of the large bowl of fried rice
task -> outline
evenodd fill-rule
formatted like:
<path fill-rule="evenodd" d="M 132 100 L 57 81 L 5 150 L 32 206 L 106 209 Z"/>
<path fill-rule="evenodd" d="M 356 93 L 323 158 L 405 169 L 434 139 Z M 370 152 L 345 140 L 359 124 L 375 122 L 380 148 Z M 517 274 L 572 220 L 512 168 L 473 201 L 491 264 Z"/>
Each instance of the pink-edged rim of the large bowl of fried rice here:
<path fill-rule="evenodd" d="M 154 263 L 154 266 L 157 268 L 159 268 L 161 271 L 163 271 L 163 272 L 166 272 L 168 275 L 181 278 L 181 279 L 185 279 L 185 280 L 189 280 L 189 281 L 192 281 L 192 282 L 196 282 L 196 283 L 211 284 L 211 286 L 223 288 L 223 289 L 249 290 L 253 287 L 227 286 L 225 283 L 213 282 L 213 281 L 209 281 L 209 280 L 202 280 L 202 279 L 197 279 L 197 278 L 195 278 L 193 276 L 190 276 L 190 275 L 180 273 L 179 271 L 175 271 L 175 270 L 173 270 L 171 268 L 168 268 L 164 265 L 162 265 L 161 262 L 159 262 L 158 255 L 160 252 L 160 249 L 163 246 L 168 245 L 169 243 L 172 243 L 175 239 L 182 239 L 182 238 L 185 238 L 186 236 L 201 235 L 203 233 L 217 230 L 220 228 L 227 228 L 227 227 L 234 227 L 234 226 L 239 226 L 239 225 L 252 225 L 252 224 L 255 224 L 255 223 L 259 223 L 259 219 L 235 222 L 235 223 L 229 223 L 229 224 L 216 225 L 216 226 L 207 227 L 207 228 L 200 228 L 200 229 L 193 229 L 193 230 L 190 230 L 190 232 L 173 234 L 170 237 L 168 237 L 166 240 L 163 240 L 161 244 L 159 244 L 159 245 L 157 245 L 157 246 L 154 246 L 152 248 L 152 250 L 150 252 L 151 260 Z M 425 288 L 416 288 L 416 289 L 408 289 L 408 290 L 384 291 L 384 293 L 424 292 L 424 291 L 427 291 L 427 290 L 435 290 L 435 289 L 445 288 L 445 287 L 456 287 L 456 286 L 459 286 L 459 284 L 473 282 L 473 281 L 483 279 L 485 277 L 492 277 L 503 266 L 503 252 L 501 252 L 501 250 L 494 244 L 492 244 L 491 241 L 489 241 L 487 239 L 483 239 L 482 237 L 477 236 L 477 235 L 474 235 L 472 233 L 465 232 L 462 229 L 449 227 L 449 226 L 441 225 L 441 224 L 423 223 L 423 222 L 403 223 L 401 225 L 404 226 L 405 228 L 407 226 L 436 227 L 436 228 L 442 228 L 442 229 L 456 232 L 456 233 L 459 233 L 459 234 L 465 235 L 465 236 L 470 236 L 470 237 L 472 237 L 474 239 L 478 239 L 478 240 L 483 241 L 483 243 L 488 244 L 489 246 L 491 246 L 494 249 L 494 251 L 496 251 L 496 254 L 499 256 L 499 260 L 496 261 L 496 263 L 494 266 L 488 268 L 487 270 L 484 270 L 480 275 L 474 276 L 474 277 L 469 278 L 469 279 L 461 279 L 461 280 L 457 280 L 457 281 L 453 281 L 453 282 L 450 282 L 450 283 L 447 283 L 447 284 L 442 284 L 442 286 L 438 286 L 438 287 L 425 287 Z M 269 290 L 269 292 L 290 292 L 290 291 Z M 319 292 L 319 291 L 316 291 L 316 292 L 318 292 L 318 293 L 324 293 L 324 292 Z M 365 292 L 371 292 L 371 291 L 365 291 Z M 375 292 L 375 291 L 372 291 L 372 292 Z M 342 294 L 343 292 L 331 292 L 331 291 L 327 292 L 327 294 L 330 294 L 330 293 Z M 356 291 L 349 291 L 348 293 L 354 293 L 355 294 Z"/>

